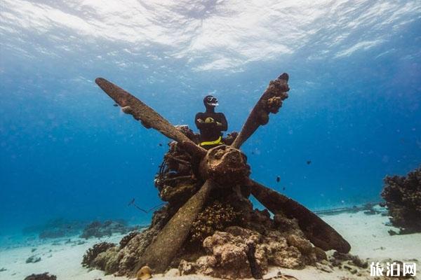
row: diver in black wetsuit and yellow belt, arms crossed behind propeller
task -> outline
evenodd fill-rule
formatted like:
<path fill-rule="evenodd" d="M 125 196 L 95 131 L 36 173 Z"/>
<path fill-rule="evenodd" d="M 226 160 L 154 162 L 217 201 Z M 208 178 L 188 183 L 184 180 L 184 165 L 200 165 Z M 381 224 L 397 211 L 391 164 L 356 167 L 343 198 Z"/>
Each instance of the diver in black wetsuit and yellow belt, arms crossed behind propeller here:
<path fill-rule="evenodd" d="M 205 113 L 196 113 L 194 123 L 200 131 L 200 146 L 207 150 L 222 142 L 222 132 L 228 130 L 228 123 L 223 113 L 215 113 L 215 106 L 218 106 L 218 99 L 208 95 L 203 99 Z"/>

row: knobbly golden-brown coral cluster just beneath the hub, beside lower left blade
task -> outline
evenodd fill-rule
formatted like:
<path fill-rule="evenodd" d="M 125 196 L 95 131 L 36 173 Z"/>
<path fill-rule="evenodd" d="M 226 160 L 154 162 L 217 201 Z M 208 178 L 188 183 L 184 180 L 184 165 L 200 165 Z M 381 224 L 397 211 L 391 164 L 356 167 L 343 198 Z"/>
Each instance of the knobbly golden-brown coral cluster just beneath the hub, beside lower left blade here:
<path fill-rule="evenodd" d="M 239 220 L 239 214 L 229 204 L 218 200 L 206 207 L 192 225 L 191 241 L 203 242 L 217 230 L 223 230 Z"/>

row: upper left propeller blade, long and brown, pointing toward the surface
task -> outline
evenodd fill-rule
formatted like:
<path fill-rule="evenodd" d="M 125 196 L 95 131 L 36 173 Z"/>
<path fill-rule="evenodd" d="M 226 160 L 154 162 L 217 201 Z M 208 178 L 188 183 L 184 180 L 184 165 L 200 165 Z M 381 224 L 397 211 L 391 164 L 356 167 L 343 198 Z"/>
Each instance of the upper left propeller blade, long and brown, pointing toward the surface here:
<path fill-rule="evenodd" d="M 185 134 L 182 134 L 180 130 L 175 128 L 171 123 L 168 122 L 163 116 L 156 113 L 154 109 L 141 102 L 139 99 L 134 97 L 132 94 L 126 92 L 121 87 L 114 85 L 114 83 L 105 80 L 105 78 L 96 78 L 95 83 L 101 87 L 106 94 L 111 97 L 116 104 L 119 104 L 123 109 L 124 113 L 129 113 L 136 120 L 140 120 L 142 125 L 146 128 L 153 128 L 158 130 L 166 137 L 177 141 L 180 144 L 189 143 L 189 147 L 194 150 L 194 153 L 204 155 L 206 150 L 194 144 Z M 194 148 L 194 147 L 196 148 Z"/>

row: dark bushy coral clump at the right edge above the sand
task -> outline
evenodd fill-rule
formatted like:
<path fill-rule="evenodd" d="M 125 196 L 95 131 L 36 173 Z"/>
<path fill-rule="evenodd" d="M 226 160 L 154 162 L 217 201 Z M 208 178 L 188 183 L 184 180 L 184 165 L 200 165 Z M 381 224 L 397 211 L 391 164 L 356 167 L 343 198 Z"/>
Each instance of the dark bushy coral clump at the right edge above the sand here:
<path fill-rule="evenodd" d="M 407 176 L 387 176 L 382 197 L 392 225 L 401 233 L 421 232 L 421 167 Z"/>

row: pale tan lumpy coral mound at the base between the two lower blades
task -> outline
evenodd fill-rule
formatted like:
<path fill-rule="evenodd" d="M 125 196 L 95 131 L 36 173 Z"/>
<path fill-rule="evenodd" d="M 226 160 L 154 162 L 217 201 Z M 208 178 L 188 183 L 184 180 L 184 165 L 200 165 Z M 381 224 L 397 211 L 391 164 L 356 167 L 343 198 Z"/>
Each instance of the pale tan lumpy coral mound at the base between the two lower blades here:
<path fill-rule="evenodd" d="M 260 279 L 269 265 L 302 269 L 326 260 L 326 254 L 305 238 L 269 230 L 264 234 L 232 226 L 203 241 L 207 255 L 196 262 L 181 261 L 181 274 L 200 273 L 223 279 Z"/>

